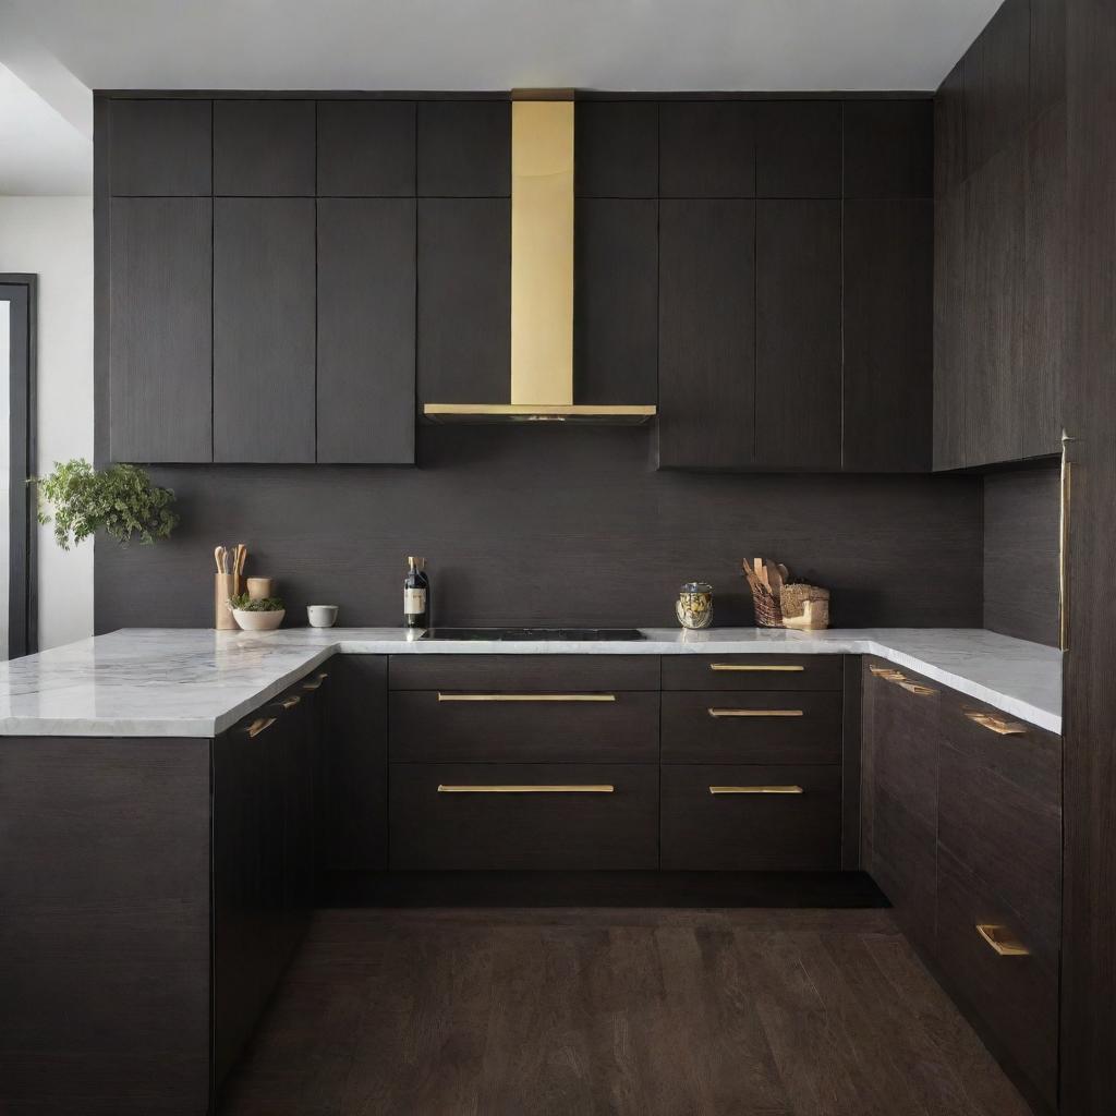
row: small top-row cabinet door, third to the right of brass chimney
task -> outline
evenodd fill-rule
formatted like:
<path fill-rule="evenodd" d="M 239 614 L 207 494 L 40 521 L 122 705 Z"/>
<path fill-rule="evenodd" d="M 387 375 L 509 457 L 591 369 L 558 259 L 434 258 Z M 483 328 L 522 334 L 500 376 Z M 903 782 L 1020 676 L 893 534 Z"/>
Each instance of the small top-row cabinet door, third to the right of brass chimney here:
<path fill-rule="evenodd" d="M 840 103 L 756 105 L 756 196 L 840 196 Z"/>

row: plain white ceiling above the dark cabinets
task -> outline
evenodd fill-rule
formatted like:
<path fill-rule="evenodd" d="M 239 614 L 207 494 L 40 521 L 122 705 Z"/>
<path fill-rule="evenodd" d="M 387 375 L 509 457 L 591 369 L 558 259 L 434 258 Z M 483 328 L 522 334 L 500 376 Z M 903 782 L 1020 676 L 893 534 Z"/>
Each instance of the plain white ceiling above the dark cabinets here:
<path fill-rule="evenodd" d="M 23 56 L 86 89 L 934 89 L 999 2 L 0 0 L 0 62 L 71 119 Z"/>

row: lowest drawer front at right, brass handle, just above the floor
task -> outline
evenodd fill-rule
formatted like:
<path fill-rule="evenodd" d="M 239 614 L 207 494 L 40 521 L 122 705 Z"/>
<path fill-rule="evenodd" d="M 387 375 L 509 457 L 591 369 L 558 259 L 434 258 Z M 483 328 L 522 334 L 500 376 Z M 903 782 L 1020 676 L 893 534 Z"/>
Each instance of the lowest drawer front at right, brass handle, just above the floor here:
<path fill-rule="evenodd" d="M 1027 955 L 1002 955 L 978 926 L 1014 940 Z M 950 991 L 984 1026 L 994 1052 L 1007 1056 L 1052 1107 L 1058 1068 L 1058 959 L 1021 930 L 1017 915 L 949 853 L 939 855 L 937 962 Z"/>

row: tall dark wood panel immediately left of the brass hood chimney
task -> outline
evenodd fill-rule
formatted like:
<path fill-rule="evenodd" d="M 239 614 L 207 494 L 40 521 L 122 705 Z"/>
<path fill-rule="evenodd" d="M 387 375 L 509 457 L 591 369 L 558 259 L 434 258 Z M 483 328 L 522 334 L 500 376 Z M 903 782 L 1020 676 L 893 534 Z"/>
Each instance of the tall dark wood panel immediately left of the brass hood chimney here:
<path fill-rule="evenodd" d="M 511 204 L 419 201 L 419 398 L 507 403 L 511 367 Z"/>

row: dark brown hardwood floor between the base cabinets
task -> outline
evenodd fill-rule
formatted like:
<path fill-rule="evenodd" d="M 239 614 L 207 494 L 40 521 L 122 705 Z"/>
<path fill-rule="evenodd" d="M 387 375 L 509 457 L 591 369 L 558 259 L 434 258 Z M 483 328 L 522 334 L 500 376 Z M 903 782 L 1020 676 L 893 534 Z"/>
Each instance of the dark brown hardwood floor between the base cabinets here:
<path fill-rule="evenodd" d="M 1026 1116 L 885 910 L 321 911 L 224 1116 Z"/>

